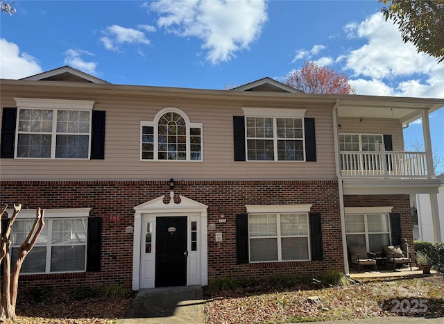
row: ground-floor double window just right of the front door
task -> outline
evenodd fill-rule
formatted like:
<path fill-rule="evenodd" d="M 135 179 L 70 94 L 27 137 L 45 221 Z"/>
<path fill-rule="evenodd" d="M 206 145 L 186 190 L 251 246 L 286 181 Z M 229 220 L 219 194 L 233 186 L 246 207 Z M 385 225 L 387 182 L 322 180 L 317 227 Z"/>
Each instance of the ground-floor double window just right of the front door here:
<path fill-rule="evenodd" d="M 250 262 L 309 260 L 308 217 L 308 212 L 289 210 L 248 213 Z"/>

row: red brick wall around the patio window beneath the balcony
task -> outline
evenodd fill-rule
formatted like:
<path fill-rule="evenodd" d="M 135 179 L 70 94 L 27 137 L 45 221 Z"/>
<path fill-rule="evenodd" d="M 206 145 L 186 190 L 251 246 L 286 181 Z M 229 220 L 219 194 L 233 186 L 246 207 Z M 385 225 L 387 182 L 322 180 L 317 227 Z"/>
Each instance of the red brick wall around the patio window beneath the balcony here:
<path fill-rule="evenodd" d="M 400 214 L 401 237 L 407 239 L 409 252 L 413 255 L 413 223 L 410 210 L 409 195 L 373 195 L 373 196 L 344 196 L 345 207 L 382 207 L 393 206 L 393 213 Z"/>

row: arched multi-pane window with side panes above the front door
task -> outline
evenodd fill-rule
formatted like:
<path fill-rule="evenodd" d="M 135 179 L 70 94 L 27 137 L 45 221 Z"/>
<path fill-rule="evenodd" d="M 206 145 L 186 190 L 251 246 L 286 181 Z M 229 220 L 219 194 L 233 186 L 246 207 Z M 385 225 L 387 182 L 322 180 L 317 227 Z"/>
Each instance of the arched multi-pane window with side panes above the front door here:
<path fill-rule="evenodd" d="M 202 161 L 202 123 L 185 112 L 165 108 L 154 121 L 141 122 L 141 160 Z"/>

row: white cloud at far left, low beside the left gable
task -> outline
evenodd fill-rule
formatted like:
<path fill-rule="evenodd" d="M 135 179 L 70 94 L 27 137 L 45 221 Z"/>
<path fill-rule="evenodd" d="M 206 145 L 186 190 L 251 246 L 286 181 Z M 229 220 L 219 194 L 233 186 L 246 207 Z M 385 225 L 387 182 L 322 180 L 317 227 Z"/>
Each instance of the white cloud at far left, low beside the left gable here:
<path fill-rule="evenodd" d="M 19 79 L 42 73 L 36 58 L 27 53 L 20 53 L 17 44 L 0 40 L 0 78 Z"/>

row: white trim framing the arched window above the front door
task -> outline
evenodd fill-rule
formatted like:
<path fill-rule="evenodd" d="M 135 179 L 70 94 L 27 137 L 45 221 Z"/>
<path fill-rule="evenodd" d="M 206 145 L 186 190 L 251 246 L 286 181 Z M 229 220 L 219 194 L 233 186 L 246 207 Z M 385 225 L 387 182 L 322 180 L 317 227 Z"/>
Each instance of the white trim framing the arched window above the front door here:
<path fill-rule="evenodd" d="M 176 112 L 176 114 L 180 114 L 182 118 L 185 120 L 185 123 L 187 125 L 187 152 L 186 152 L 186 160 L 159 160 L 159 142 L 158 142 L 158 129 L 157 125 L 159 123 L 160 117 L 162 117 L 167 112 Z M 153 136 L 154 136 L 154 158 L 153 160 L 150 159 L 143 159 L 142 158 L 142 127 L 148 126 L 153 127 Z M 191 139 L 190 139 L 190 128 L 200 128 L 200 160 L 191 160 Z M 157 112 L 155 115 L 153 121 L 140 121 L 140 161 L 160 161 L 160 162 L 203 162 L 203 123 L 191 123 L 189 120 L 189 117 L 185 112 L 182 110 L 175 108 L 175 107 L 169 107 L 164 108 Z"/>

